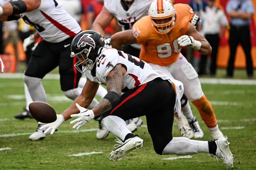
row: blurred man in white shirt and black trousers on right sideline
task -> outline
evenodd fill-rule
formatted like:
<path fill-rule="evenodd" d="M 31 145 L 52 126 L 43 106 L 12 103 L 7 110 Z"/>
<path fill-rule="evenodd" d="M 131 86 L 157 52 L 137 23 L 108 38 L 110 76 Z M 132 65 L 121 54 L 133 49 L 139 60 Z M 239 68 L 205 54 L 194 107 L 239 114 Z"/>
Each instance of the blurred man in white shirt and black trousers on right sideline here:
<path fill-rule="evenodd" d="M 219 41 L 228 25 L 228 19 L 225 13 L 215 6 L 214 2 L 215 0 L 208 0 L 208 6 L 205 8 L 205 12 L 200 12 L 200 16 L 203 22 L 201 33 L 212 46 L 210 66 L 211 76 L 215 76 L 216 74 L 216 56 L 218 53 Z M 207 55 L 201 55 L 198 75 L 206 74 L 206 63 Z"/>

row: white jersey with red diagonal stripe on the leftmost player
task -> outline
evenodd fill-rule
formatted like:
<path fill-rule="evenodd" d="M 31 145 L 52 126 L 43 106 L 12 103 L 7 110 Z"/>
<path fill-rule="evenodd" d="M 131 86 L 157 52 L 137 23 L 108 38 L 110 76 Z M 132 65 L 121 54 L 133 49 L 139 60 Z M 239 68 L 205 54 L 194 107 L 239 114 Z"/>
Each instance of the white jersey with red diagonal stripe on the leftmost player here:
<path fill-rule="evenodd" d="M 48 42 L 61 42 L 81 31 L 77 21 L 56 0 L 41 0 L 36 10 L 20 16 Z"/>

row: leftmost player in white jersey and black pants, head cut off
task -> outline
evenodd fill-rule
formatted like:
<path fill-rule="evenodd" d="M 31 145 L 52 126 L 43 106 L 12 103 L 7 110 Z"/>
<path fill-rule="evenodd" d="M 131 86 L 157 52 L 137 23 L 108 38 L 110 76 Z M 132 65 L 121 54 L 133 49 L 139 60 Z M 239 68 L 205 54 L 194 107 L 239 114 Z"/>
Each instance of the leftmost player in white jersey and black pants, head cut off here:
<path fill-rule="evenodd" d="M 76 99 L 82 91 L 82 88 L 78 87 L 78 82 L 84 85 L 86 79 L 83 81 L 81 73 L 77 72 L 73 66 L 73 63 L 76 63 L 76 58 L 70 58 L 70 43 L 74 36 L 81 32 L 81 28 L 57 1 L 18 0 L 0 6 L 0 20 L 17 20 L 20 17 L 27 24 L 34 26 L 39 33 L 38 35 L 37 33 L 31 35 L 31 41 L 39 35 L 43 38 L 33 51 L 23 77 L 27 109 L 16 115 L 15 118 L 24 119 L 26 117 L 32 118 L 28 111 L 30 102 L 46 102 L 46 94 L 41 80 L 57 66 L 59 66 L 61 90 L 72 100 Z M 88 107 L 93 108 L 98 103 L 96 99 L 93 99 Z M 45 137 L 44 129 L 39 129 L 41 126 L 39 125 L 36 131 L 29 136 L 30 140 L 39 140 Z M 99 130 L 97 134 L 98 132 Z"/>

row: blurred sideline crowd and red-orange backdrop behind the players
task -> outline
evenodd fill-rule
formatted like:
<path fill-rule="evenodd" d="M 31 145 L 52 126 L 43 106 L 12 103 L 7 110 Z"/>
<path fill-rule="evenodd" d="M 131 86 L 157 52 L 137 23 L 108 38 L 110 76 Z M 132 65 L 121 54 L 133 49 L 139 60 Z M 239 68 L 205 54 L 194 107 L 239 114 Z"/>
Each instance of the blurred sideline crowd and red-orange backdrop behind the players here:
<path fill-rule="evenodd" d="M 0 0 L 4 4 L 8 0 Z M 63 8 L 80 24 L 82 30 L 92 28 L 92 23 L 104 6 L 104 0 L 58 0 Z M 192 63 L 199 76 L 216 77 L 218 68 L 225 69 L 225 77 L 233 77 L 234 69 L 246 69 L 253 78 L 256 68 L 256 0 L 175 0 L 189 4 L 201 19 L 197 30 L 212 46 L 211 55 L 201 55 L 192 48 L 183 48 L 182 54 Z M 238 4 L 238 5 L 237 5 Z M 115 19 L 105 29 L 105 37 L 121 31 Z M 4 72 L 23 73 L 30 55 L 40 38 L 22 46 L 35 29 L 22 18 L 18 21 L 0 22 L 0 54 Z M 26 40 L 25 40 L 26 41 Z"/>

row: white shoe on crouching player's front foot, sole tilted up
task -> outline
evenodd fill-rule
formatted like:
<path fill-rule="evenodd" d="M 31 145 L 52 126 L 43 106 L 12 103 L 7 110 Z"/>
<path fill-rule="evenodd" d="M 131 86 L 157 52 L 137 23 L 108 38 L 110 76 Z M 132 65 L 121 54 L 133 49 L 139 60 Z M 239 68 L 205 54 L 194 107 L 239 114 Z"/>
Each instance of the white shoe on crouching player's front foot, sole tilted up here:
<path fill-rule="evenodd" d="M 117 137 L 116 137 L 117 138 Z M 119 144 L 115 144 L 114 149 L 109 155 L 108 159 L 111 161 L 121 160 L 124 156 L 131 152 L 134 149 L 139 149 L 143 146 L 143 139 L 139 137 L 132 137 L 127 139 L 125 142 L 122 142 L 120 139 L 115 139 L 115 141 Z"/>

